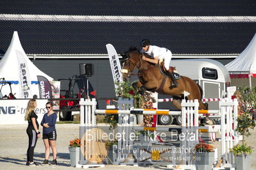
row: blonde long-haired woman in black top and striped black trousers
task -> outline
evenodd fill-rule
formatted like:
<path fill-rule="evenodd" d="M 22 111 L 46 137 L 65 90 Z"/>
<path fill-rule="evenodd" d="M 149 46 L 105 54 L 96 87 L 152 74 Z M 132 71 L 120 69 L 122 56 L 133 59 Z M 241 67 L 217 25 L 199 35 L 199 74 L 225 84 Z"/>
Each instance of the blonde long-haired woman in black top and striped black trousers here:
<path fill-rule="evenodd" d="M 37 122 L 37 114 L 35 114 L 35 108 L 37 107 L 37 101 L 35 99 L 31 99 L 28 102 L 28 106 L 26 109 L 25 120 L 28 121 L 28 151 L 27 151 L 27 162 L 26 166 L 37 166 L 33 161 L 34 149 L 37 144 L 37 138 L 40 138 L 40 132 L 38 130 L 39 124 Z"/>

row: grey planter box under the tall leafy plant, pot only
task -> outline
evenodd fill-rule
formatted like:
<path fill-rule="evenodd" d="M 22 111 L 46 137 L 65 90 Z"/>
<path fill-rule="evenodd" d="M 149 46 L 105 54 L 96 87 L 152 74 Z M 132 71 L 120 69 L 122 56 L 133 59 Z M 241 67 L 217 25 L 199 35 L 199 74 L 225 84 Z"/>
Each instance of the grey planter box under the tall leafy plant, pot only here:
<path fill-rule="evenodd" d="M 237 170 L 250 170 L 252 164 L 252 155 L 237 155 L 235 156 L 235 169 Z"/>

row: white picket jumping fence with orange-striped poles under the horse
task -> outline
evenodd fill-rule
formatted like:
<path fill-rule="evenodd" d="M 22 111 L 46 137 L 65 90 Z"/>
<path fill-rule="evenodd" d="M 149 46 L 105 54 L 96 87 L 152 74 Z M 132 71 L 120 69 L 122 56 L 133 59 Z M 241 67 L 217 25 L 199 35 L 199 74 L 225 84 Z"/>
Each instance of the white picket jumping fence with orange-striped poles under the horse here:
<path fill-rule="evenodd" d="M 221 114 L 221 125 L 220 128 L 215 128 L 214 130 L 209 127 L 199 127 L 198 118 L 202 113 L 207 111 L 198 110 L 198 100 L 194 101 L 185 101 L 182 100 L 182 111 L 174 112 L 173 114 L 182 115 L 182 127 L 180 127 L 182 134 L 185 137 L 180 143 L 180 147 L 191 149 L 199 143 L 199 134 L 200 132 L 219 132 L 221 131 L 221 158 L 223 159 L 222 166 L 234 167 L 234 158 L 229 149 L 232 148 L 235 144 L 238 143 L 238 135 L 235 132 L 237 127 L 237 99 L 231 100 L 228 98 L 221 99 L 220 112 Z M 136 164 L 139 160 L 133 154 L 133 144 L 134 141 L 130 139 L 129 134 L 131 130 L 163 130 L 168 131 L 169 127 L 157 127 L 157 128 L 143 128 L 143 127 L 134 127 L 134 116 L 136 114 L 171 114 L 167 110 L 146 110 L 146 109 L 134 109 L 133 108 L 133 99 L 122 99 L 118 100 L 119 110 L 98 110 L 96 109 L 96 99 L 92 98 L 91 100 L 80 100 L 81 110 L 80 110 L 80 138 L 84 140 L 84 135 L 87 130 L 96 128 L 96 114 L 118 114 L 118 125 L 117 132 L 124 133 L 124 139 L 119 140 L 117 143 L 117 157 L 115 158 L 113 164 Z M 211 131 L 212 130 L 212 131 Z M 195 140 L 188 140 L 191 135 L 195 135 Z M 233 139 L 234 138 L 234 139 Z M 94 145 L 93 145 L 94 146 Z M 172 147 L 173 148 L 173 147 Z M 94 167 L 94 166 L 104 166 L 100 161 L 92 161 L 95 158 L 99 158 L 98 155 L 95 155 L 97 149 L 92 147 L 91 143 L 87 141 L 82 142 L 81 153 L 80 153 L 80 162 L 78 166 L 83 167 Z M 182 149 L 182 160 L 183 166 L 190 166 L 194 164 L 192 159 L 192 153 L 187 153 Z M 187 157 L 191 159 L 187 160 Z M 218 158 L 219 160 L 220 158 Z M 174 162 L 173 162 L 174 163 Z M 180 162 L 178 162 L 179 164 Z M 177 164 L 177 162 L 175 163 Z"/>

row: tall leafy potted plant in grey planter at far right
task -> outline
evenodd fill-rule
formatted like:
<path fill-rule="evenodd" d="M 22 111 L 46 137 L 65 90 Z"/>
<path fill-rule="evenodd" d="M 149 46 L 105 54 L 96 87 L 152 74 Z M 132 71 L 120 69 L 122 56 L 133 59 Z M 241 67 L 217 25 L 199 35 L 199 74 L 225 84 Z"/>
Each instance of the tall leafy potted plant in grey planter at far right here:
<path fill-rule="evenodd" d="M 238 116 L 237 116 L 237 128 L 235 131 L 243 136 L 242 144 L 235 145 L 230 151 L 235 155 L 235 167 L 236 169 L 250 169 L 252 162 L 252 147 L 247 146 L 245 143 L 245 137 L 251 135 L 250 128 L 255 127 L 255 107 L 256 102 L 256 88 L 240 88 L 235 92 L 235 96 L 238 98 Z"/>

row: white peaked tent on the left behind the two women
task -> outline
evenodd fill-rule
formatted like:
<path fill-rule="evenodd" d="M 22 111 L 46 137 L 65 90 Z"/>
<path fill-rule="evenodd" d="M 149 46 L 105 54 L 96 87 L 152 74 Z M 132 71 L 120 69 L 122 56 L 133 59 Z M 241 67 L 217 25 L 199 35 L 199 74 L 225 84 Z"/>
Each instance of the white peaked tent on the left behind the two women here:
<path fill-rule="evenodd" d="M 39 91 L 42 91 L 41 89 L 39 90 L 38 83 L 40 84 L 40 81 L 38 76 L 46 78 L 47 81 L 53 81 L 53 78 L 41 72 L 26 56 L 18 33 L 14 31 L 12 42 L 0 60 L 0 78 L 11 82 L 12 93 L 15 94 L 16 98 L 33 98 L 33 95 L 40 97 Z M 0 84 L 2 95 L 9 95 L 10 88 L 2 85 L 3 83 Z M 44 87 L 40 86 L 40 88 Z"/>

